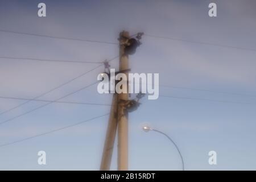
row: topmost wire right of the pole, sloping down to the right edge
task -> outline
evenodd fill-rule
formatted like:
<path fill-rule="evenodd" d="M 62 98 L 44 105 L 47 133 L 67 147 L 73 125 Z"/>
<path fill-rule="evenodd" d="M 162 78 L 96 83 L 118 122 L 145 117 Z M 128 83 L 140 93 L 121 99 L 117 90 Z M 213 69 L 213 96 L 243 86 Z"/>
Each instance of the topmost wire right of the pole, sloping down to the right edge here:
<path fill-rule="evenodd" d="M 145 34 L 145 35 L 149 36 L 149 37 L 152 37 L 152 38 L 169 39 L 169 40 L 175 40 L 175 41 L 180 41 L 180 42 L 188 42 L 188 43 L 193 43 L 193 44 L 204 44 L 204 45 L 208 45 L 208 46 L 218 46 L 218 47 L 225 47 L 225 48 L 232 48 L 232 49 L 241 49 L 241 50 L 245 50 L 245 51 L 254 51 L 254 52 L 256 52 L 256 49 L 253 49 L 253 48 L 227 46 L 227 45 L 221 45 L 221 44 L 215 44 L 215 43 L 209 43 L 209 42 L 198 42 L 198 41 L 193 41 L 193 40 L 185 40 L 185 39 L 179 39 L 179 38 L 170 38 L 170 37 L 165 37 L 165 36 L 157 36 L 157 35 L 149 35 L 149 34 Z"/>

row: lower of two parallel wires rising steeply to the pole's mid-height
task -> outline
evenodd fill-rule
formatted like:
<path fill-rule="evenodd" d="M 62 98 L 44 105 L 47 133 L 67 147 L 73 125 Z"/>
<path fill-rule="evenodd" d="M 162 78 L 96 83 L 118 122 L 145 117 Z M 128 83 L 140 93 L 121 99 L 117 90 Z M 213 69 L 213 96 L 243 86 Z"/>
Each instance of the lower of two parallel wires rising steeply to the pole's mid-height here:
<path fill-rule="evenodd" d="M 46 104 L 44 104 L 44 105 L 40 105 L 40 106 L 38 106 L 38 107 L 35 107 L 34 109 L 31 109 L 31 110 L 26 111 L 25 113 L 22 113 L 22 114 L 16 115 L 16 116 L 15 116 L 15 117 L 13 117 L 13 118 L 10 118 L 10 119 L 7 119 L 6 121 L 0 122 L 0 125 L 2 125 L 3 123 L 10 122 L 10 121 L 12 121 L 12 120 L 14 120 L 14 119 L 16 119 L 16 118 L 22 117 L 23 115 L 26 115 L 26 114 L 32 113 L 32 111 L 35 111 L 35 110 L 41 109 L 42 107 L 45 107 L 45 106 L 47 106 L 47 105 L 49 105 L 49 104 L 52 104 L 53 102 L 59 101 L 59 100 L 61 100 L 61 99 L 65 98 L 65 97 L 71 96 L 72 94 L 77 93 L 77 92 L 80 92 L 81 90 L 84 90 L 84 89 L 88 88 L 89 86 L 92 86 L 92 85 L 97 84 L 97 82 L 98 82 L 98 81 L 93 82 L 92 84 L 87 85 L 87 86 L 84 86 L 84 87 L 80 88 L 79 90 L 76 90 L 75 92 L 71 92 L 71 93 L 69 93 L 69 94 L 67 94 L 67 95 L 65 95 L 65 96 L 63 96 L 63 97 L 60 97 L 60 98 L 58 98 L 58 99 L 54 100 L 54 101 L 47 102 L 47 103 L 46 103 Z"/>

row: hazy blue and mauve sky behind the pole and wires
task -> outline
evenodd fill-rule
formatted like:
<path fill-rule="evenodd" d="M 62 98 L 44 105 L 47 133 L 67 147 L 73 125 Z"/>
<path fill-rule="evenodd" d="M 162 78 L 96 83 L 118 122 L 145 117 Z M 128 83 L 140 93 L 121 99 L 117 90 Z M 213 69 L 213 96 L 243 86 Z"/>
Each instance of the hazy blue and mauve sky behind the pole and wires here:
<path fill-rule="evenodd" d="M 39 18 L 38 3 L 47 6 Z M 210 2 L 217 17 L 208 16 Z M 0 1 L 0 30 L 67 38 L 118 42 L 122 30 L 195 42 L 256 49 L 256 1 Z M 118 46 L 40 38 L 0 32 L 0 56 L 56 60 L 104 61 L 118 55 Z M 158 133 L 144 133 L 147 123 L 175 140 L 187 170 L 256 169 L 256 51 L 180 42 L 143 36 L 142 46 L 130 56 L 133 73 L 159 73 L 160 84 L 207 89 L 160 87 L 162 95 L 209 100 L 250 102 L 235 104 L 203 100 L 144 97 L 129 115 L 129 169 L 180 170 L 175 147 Z M 118 68 L 118 60 L 111 62 Z M 48 63 L 0 59 L 0 96 L 33 98 L 81 75 L 97 64 Z M 40 97 L 55 100 L 96 81 L 100 67 L 70 84 Z M 133 96 L 135 97 L 135 96 Z M 110 104 L 112 96 L 91 86 L 61 101 Z M 0 99 L 0 112 L 24 101 Z M 44 102 L 30 102 L 0 115 L 6 121 Z M 0 145 L 72 125 L 109 112 L 109 106 L 50 104 L 0 125 Z M 42 137 L 0 147 L 0 170 L 98 170 L 108 117 L 95 119 Z M 47 153 L 39 166 L 38 151 Z M 208 152 L 217 152 L 217 165 Z M 112 167 L 117 169 L 115 143 Z"/>

